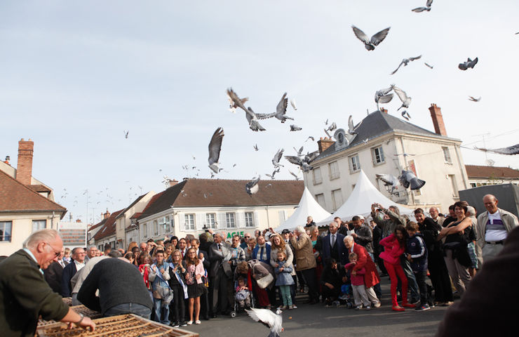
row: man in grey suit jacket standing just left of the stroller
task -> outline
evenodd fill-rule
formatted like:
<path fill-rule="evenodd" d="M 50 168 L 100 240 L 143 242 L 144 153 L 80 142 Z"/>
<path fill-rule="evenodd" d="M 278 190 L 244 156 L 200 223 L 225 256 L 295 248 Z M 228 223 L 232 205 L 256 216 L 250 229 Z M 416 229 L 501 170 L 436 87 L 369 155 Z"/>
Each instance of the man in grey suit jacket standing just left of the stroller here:
<path fill-rule="evenodd" d="M 224 242 L 224 233 L 215 233 L 215 242 L 209 247 L 209 277 L 210 292 L 213 294 L 213 318 L 216 318 L 218 307 L 223 314 L 229 312 L 227 300 L 227 283 L 231 278 L 231 265 L 228 261 L 231 255 L 229 245 Z"/>

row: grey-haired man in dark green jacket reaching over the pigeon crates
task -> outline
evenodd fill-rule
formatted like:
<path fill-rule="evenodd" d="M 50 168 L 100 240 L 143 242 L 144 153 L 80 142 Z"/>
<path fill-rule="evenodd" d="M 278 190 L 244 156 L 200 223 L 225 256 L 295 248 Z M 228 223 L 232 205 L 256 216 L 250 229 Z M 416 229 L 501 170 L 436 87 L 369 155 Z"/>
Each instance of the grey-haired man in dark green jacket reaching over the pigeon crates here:
<path fill-rule="evenodd" d="M 39 230 L 23 243 L 24 249 L 0 263 L 1 336 L 33 337 L 38 318 L 74 322 L 79 326 L 95 323 L 63 303 L 43 278 L 43 270 L 58 260 L 63 242 L 55 230 Z"/>

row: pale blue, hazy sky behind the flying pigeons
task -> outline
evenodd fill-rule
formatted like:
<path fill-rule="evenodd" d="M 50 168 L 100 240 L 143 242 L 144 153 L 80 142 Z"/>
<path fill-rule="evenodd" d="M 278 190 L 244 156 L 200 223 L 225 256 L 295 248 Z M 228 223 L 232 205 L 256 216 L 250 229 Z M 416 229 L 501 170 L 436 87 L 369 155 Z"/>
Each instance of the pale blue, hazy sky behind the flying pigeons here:
<path fill-rule="evenodd" d="M 103 211 L 163 190 L 165 177 L 210 178 L 219 126 L 217 177 L 267 178 L 278 149 L 317 150 L 305 140 L 325 136 L 326 119 L 358 123 L 377 110 L 375 91 L 396 84 L 412 97 L 411 123 L 433 131 L 428 108 L 441 107 L 465 164 L 519 169 L 517 155 L 473 150 L 518 143 L 519 2 L 437 0 L 430 12 L 411 11 L 425 2 L 1 1 L 0 159 L 15 167 L 18 140 L 31 138 L 33 176 L 74 220 L 97 223 Z M 351 25 L 369 36 L 391 29 L 367 51 Z M 476 57 L 476 67 L 458 70 Z M 295 121 L 261 121 L 267 131 L 252 132 L 243 111 L 229 112 L 229 87 L 261 113 L 287 92 Z M 382 106 L 402 118 L 398 98 Z M 292 179 L 297 167 L 282 164 L 276 178 Z"/>

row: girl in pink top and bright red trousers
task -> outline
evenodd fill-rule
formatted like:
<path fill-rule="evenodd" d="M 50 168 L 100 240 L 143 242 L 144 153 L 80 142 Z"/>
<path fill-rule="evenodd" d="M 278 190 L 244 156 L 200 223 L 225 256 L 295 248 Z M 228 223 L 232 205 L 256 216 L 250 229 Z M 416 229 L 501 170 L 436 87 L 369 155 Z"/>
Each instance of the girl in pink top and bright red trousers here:
<path fill-rule="evenodd" d="M 400 256 L 405 251 L 406 235 L 405 227 L 398 225 L 393 234 L 380 240 L 380 245 L 384 246 L 384 251 L 380 253 L 379 256 L 384 260 L 384 267 L 386 267 L 389 278 L 391 279 L 391 300 L 393 302 L 394 311 L 404 311 L 405 308 L 414 308 L 414 305 L 407 302 L 407 277 L 405 277 L 402 266 L 400 265 Z M 396 300 L 398 279 L 402 282 L 402 306 L 398 305 L 398 301 Z"/>

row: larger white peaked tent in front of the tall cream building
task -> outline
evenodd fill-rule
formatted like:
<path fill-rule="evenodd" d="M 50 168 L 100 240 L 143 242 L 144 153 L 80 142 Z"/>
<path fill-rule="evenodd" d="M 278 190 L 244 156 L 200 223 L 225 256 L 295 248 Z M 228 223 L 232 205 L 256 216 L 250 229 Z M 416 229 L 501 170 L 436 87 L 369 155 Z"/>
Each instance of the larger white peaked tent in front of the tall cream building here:
<path fill-rule="evenodd" d="M 318 225 L 328 225 L 333 221 L 333 218 L 339 216 L 343 221 L 350 220 L 353 216 L 370 216 L 371 204 L 381 204 L 384 207 L 391 205 L 398 206 L 400 214 L 407 214 L 408 216 L 414 216 L 412 209 L 408 209 L 407 206 L 396 204 L 395 201 L 387 198 L 377 190 L 377 187 L 373 186 L 364 171 L 360 170 L 358 180 L 351 192 L 349 198 L 342 204 L 342 206 L 335 211 L 331 216 L 325 218 L 318 223 Z"/>

